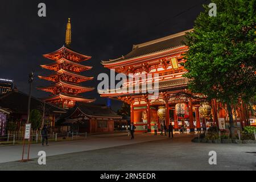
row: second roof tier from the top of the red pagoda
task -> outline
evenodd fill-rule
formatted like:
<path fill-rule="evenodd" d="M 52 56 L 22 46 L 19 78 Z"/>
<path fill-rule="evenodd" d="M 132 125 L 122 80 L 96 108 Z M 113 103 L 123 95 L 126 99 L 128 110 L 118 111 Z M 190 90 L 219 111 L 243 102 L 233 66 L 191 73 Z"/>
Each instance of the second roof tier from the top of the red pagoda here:
<path fill-rule="evenodd" d="M 76 72 L 76 73 L 80 73 L 80 72 L 92 69 L 92 67 L 81 65 L 81 64 L 75 63 L 73 61 L 69 61 L 65 58 L 61 58 L 60 60 L 57 60 L 56 62 L 46 64 L 46 65 L 40 65 L 40 66 L 42 68 L 49 69 L 52 71 L 59 71 L 60 69 L 65 68 L 68 71 Z"/>

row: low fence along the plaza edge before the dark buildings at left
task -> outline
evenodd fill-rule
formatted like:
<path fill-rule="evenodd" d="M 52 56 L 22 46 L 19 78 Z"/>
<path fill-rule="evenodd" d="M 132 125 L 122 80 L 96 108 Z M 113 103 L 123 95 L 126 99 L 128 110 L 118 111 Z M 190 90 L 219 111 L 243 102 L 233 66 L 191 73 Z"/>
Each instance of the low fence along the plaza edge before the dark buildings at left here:
<path fill-rule="evenodd" d="M 7 135 L 0 136 L 0 145 L 9 145 L 9 144 L 22 144 L 24 135 L 20 133 L 9 133 Z M 87 133 L 51 133 L 48 134 L 49 142 L 59 142 L 65 140 L 80 140 L 87 139 Z M 31 133 L 30 135 L 31 143 L 40 143 L 42 142 L 42 135 L 40 133 Z"/>

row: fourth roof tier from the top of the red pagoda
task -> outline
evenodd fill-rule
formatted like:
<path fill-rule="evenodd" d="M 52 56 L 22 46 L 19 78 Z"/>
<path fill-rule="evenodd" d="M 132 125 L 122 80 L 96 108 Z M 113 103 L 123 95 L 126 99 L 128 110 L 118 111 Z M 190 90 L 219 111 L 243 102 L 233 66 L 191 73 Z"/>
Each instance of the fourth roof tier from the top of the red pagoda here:
<path fill-rule="evenodd" d="M 44 90 L 51 93 L 75 92 L 76 94 L 89 92 L 94 90 L 93 87 L 81 86 L 78 84 L 71 84 L 69 82 L 59 81 L 49 86 L 38 87 L 39 90 Z M 73 91 L 75 90 L 75 91 Z"/>

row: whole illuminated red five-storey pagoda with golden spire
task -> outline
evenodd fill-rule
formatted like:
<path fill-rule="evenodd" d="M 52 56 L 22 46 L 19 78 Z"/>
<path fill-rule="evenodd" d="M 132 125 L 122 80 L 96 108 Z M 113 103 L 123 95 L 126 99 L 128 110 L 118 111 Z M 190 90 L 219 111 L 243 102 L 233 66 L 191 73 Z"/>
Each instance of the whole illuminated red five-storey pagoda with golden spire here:
<path fill-rule="evenodd" d="M 48 97 L 43 98 L 43 100 L 62 108 L 71 108 L 75 106 L 76 102 L 89 103 L 95 101 L 79 96 L 80 93 L 89 92 L 94 89 L 92 87 L 80 85 L 81 82 L 93 80 L 93 77 L 80 75 L 81 72 L 92 69 L 92 67 L 80 64 L 82 61 L 91 59 L 91 57 L 72 51 L 70 45 L 71 22 L 69 18 L 65 46 L 55 52 L 43 55 L 54 62 L 47 65 L 41 65 L 41 67 L 55 72 L 47 76 L 38 76 L 41 79 L 53 82 L 53 84 L 49 86 L 38 88 L 51 93 Z"/>

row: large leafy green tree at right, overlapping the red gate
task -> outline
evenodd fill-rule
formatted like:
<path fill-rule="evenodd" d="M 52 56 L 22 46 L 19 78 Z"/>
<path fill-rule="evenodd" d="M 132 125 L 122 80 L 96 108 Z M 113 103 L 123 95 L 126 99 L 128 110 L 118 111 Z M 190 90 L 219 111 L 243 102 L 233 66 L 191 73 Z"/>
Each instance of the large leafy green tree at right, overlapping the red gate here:
<path fill-rule="evenodd" d="M 255 99 L 255 0 L 213 0 L 217 16 L 204 5 L 186 36 L 184 63 L 189 89 L 226 104 L 233 132 L 232 106 Z"/>

